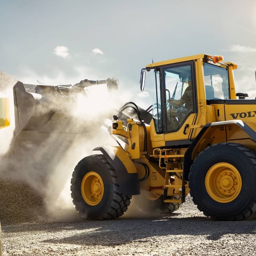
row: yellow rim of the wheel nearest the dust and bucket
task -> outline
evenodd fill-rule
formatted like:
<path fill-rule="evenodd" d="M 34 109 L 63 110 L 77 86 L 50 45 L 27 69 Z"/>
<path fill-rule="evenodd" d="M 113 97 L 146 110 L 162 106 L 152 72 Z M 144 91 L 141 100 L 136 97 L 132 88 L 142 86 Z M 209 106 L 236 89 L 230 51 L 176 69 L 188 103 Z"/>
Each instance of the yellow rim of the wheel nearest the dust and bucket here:
<path fill-rule="evenodd" d="M 100 176 L 95 172 L 85 175 L 81 183 L 82 198 L 89 205 L 97 205 L 104 193 L 104 185 Z"/>

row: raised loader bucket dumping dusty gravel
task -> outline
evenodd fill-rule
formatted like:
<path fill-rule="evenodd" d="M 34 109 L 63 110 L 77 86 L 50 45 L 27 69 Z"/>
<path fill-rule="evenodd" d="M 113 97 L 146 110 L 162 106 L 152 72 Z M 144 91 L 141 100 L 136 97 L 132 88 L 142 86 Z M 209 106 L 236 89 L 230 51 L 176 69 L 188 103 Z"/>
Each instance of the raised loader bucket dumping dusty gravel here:
<path fill-rule="evenodd" d="M 73 140 L 82 132 L 82 126 L 71 113 L 75 104 L 71 85 L 35 86 L 17 82 L 13 95 L 16 139 Z"/>

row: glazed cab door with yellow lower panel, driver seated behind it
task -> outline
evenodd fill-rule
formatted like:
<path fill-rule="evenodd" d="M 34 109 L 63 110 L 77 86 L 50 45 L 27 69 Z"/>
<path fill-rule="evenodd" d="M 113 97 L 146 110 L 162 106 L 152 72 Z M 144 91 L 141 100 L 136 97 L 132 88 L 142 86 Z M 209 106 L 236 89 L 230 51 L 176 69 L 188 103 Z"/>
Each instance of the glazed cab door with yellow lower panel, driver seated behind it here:
<path fill-rule="evenodd" d="M 175 145 L 176 137 L 181 138 L 182 143 L 190 143 L 187 141 L 189 131 L 187 122 L 193 122 L 197 113 L 194 62 L 159 65 L 152 71 L 155 77 L 156 97 L 153 101 L 151 123 L 155 134 L 151 134 L 151 138 Z M 143 81 L 143 73 L 141 81 Z"/>

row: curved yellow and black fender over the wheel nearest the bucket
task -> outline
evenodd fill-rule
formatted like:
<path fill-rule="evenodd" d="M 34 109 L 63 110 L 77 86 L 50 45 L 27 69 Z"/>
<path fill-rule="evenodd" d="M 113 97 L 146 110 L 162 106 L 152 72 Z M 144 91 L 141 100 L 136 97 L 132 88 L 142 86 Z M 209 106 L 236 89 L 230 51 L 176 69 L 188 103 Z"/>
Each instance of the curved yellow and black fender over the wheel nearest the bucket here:
<path fill-rule="evenodd" d="M 116 171 L 121 193 L 126 196 L 140 195 L 137 169 L 127 153 L 121 147 L 95 147 L 93 151 L 101 151 Z"/>

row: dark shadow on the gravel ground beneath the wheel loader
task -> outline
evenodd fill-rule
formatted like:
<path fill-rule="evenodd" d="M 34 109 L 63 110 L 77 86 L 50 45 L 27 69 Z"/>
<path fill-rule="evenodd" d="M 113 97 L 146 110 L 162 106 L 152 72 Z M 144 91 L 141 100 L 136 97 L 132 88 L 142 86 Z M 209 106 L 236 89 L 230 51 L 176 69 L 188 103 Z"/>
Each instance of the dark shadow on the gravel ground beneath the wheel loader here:
<path fill-rule="evenodd" d="M 117 246 L 140 241 L 149 242 L 154 236 L 205 236 L 207 240 L 219 240 L 225 234 L 255 234 L 256 220 L 214 221 L 207 217 L 175 218 L 173 216 L 147 219 L 118 219 L 110 221 L 83 221 L 74 223 L 41 223 L 18 225 L 20 232 L 61 230 L 77 231 L 77 234 L 65 238 L 53 238 L 42 243 L 76 244 L 85 246 Z M 12 227 L 3 226 L 4 232 L 12 232 Z M 17 226 L 13 226 L 13 232 Z M 232 231 L 230 231 L 232 230 Z M 100 236 L 100 241 L 99 241 Z M 97 242 L 95 242 L 97 241 Z"/>

